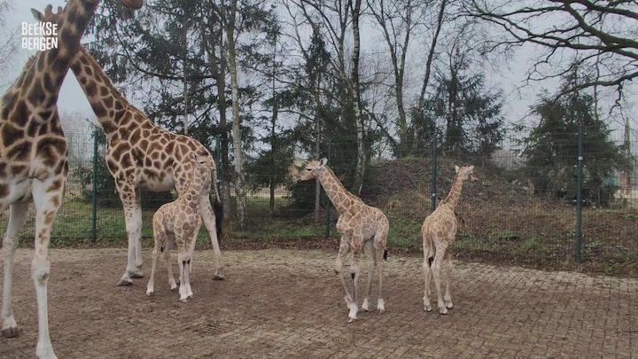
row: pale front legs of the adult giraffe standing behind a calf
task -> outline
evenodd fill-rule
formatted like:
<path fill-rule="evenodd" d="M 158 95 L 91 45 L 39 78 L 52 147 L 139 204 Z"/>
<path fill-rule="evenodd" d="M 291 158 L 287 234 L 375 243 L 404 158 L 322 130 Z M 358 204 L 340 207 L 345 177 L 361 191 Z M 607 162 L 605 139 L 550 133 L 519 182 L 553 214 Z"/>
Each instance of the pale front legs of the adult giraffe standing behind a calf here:
<path fill-rule="evenodd" d="M 144 277 L 142 273 L 142 205 L 138 191 L 132 185 L 119 185 L 118 192 L 124 207 L 128 234 L 127 269 L 118 286 L 132 285 L 131 278 Z"/>

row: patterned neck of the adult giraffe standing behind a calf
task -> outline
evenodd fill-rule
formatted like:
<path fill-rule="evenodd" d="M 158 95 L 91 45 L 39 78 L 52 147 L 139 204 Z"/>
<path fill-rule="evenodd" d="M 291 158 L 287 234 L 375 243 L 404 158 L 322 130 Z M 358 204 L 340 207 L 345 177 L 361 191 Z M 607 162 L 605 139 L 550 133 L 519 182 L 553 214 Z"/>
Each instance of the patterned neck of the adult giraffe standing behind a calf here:
<path fill-rule="evenodd" d="M 105 74 L 102 66 L 91 56 L 84 46 L 80 46 L 71 62 L 71 70 L 75 78 L 80 83 L 93 112 L 97 116 L 106 137 L 109 137 L 122 125 L 130 125 L 131 121 L 138 124 L 152 121 L 146 116 L 124 116 L 123 112 L 130 105 L 128 100 L 122 96 L 111 79 Z M 122 123 L 126 121 L 126 123 Z M 154 125 L 153 125 L 154 126 Z"/>

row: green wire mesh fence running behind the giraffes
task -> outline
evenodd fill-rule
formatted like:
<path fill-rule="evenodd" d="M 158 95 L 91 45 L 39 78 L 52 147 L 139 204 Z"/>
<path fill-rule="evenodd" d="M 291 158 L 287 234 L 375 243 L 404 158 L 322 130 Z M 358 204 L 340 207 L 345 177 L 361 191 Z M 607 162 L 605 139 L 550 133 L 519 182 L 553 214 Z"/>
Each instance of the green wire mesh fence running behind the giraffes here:
<path fill-rule="evenodd" d="M 114 187 L 104 166 L 104 144 L 97 149 L 94 168 L 94 138 L 82 134 L 67 134 L 69 139 L 70 173 L 66 196 L 58 212 L 51 234 L 52 246 L 89 243 L 95 236 L 98 243 L 126 243 L 124 215 Z M 565 134 L 564 141 L 575 142 L 574 134 Z M 636 144 L 632 143 L 631 148 Z M 595 149 L 587 137 L 583 148 Z M 573 261 L 576 251 L 577 206 L 579 185 L 576 181 L 578 145 L 571 143 L 562 152 L 548 152 L 531 158 L 522 152 L 496 150 L 489 157 L 451 156 L 440 153 L 436 160 L 436 196 L 447 196 L 455 175 L 455 165 L 474 165 L 477 183 L 466 183 L 456 213 L 459 232 L 455 241 L 458 257 L 503 258 L 512 262 Z M 587 152 L 587 151 L 586 151 Z M 247 158 L 256 159 L 257 152 Z M 331 168 L 344 183 L 351 183 L 356 153 L 326 153 Z M 461 158 L 461 160 L 459 160 Z M 291 159 L 285 169 L 289 177 L 299 170 L 307 156 Z M 611 158 L 607 153 L 588 151 L 583 160 L 582 213 L 580 254 L 583 261 L 600 263 L 601 268 L 638 267 L 638 179 L 634 160 L 624 169 L 601 172 Z M 93 222 L 93 171 L 98 170 L 95 222 Z M 334 226 L 338 213 L 331 208 L 325 195 L 320 196 L 315 212 L 315 185 L 294 190 L 287 182 L 273 188 L 261 185 L 271 168 L 253 165 L 245 191 L 246 221 L 240 228 L 234 221 L 235 199 L 231 193 L 230 217 L 225 219 L 222 242 L 233 240 L 323 240 L 327 235 L 338 238 Z M 255 173 L 257 175 L 255 175 Z M 396 160 L 385 154 L 374 154 L 367 168 L 360 197 L 371 206 L 381 208 L 390 220 L 388 246 L 407 251 L 421 247 L 420 229 L 424 217 L 432 211 L 432 156 Z M 261 177 L 260 179 L 255 178 Z M 231 186 L 232 187 L 232 186 Z M 294 191 L 307 191 L 307 202 L 293 197 Z M 152 215 L 161 203 L 170 200 L 170 193 L 143 191 L 143 238 L 152 238 Z M 300 202 L 302 205 L 300 206 Z M 2 215 L 0 230 L 4 231 L 8 211 Z M 20 238 L 29 246 L 34 238 L 34 214 Z M 95 233 L 93 232 L 95 230 Z M 202 243 L 206 230 L 200 232 Z M 146 241 L 147 243 L 150 241 Z M 601 269 L 603 270 L 603 269 Z"/>

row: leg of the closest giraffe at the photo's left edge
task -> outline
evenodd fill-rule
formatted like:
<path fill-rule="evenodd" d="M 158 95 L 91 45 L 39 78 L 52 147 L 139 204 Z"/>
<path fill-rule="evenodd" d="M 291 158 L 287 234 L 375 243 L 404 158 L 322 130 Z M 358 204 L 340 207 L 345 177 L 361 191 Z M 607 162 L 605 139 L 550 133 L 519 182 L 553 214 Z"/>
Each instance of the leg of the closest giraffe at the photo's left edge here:
<path fill-rule="evenodd" d="M 18 233 L 27 222 L 29 202 L 14 203 L 10 207 L 9 223 L 4 234 L 4 285 L 3 285 L 3 309 L 2 309 L 2 335 L 5 338 L 18 336 L 18 324 L 13 317 L 12 290 L 13 290 L 13 257 L 18 245 Z"/>

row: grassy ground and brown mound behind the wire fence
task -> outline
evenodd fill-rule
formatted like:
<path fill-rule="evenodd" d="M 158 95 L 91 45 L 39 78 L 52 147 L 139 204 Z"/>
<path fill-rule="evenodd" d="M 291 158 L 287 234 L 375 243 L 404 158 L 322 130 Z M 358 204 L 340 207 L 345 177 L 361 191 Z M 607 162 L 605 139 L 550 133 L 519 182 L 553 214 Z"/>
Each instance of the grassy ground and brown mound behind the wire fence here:
<path fill-rule="evenodd" d="M 428 159 L 397 160 L 384 164 L 385 176 L 377 187 L 366 188 L 365 199 L 381 208 L 390 221 L 387 246 L 390 252 L 421 254 L 421 225 L 431 212 Z M 437 193 L 444 198 L 449 190 L 454 166 L 441 159 Z M 455 258 L 486 261 L 492 264 L 516 264 L 540 269 L 578 269 L 587 272 L 635 276 L 638 273 L 638 210 L 635 208 L 585 208 L 582 214 L 580 263 L 574 262 L 574 207 L 534 196 L 506 181 L 488 168 L 477 167 L 478 183 L 468 183 L 456 207 L 459 228 L 450 253 Z M 224 219 L 222 248 L 249 246 L 292 246 L 300 248 L 325 244 L 338 249 L 340 237 L 332 212 L 315 222 L 312 215 L 281 212 L 290 199 L 277 197 L 271 213 L 268 197 L 248 196 L 244 228 L 232 219 Z M 231 212 L 234 201 L 229 204 Z M 143 212 L 144 246 L 152 246 L 152 210 Z M 8 211 L 0 220 L 4 232 Z M 33 246 L 33 211 L 20 233 L 21 246 Z M 97 246 L 127 246 L 126 225 L 121 207 L 99 207 Z M 330 231 L 325 238 L 326 226 Z M 89 203 L 67 198 L 63 201 L 51 233 L 51 246 L 86 246 L 91 238 Z M 199 232 L 198 246 L 210 247 L 205 227 Z"/>

